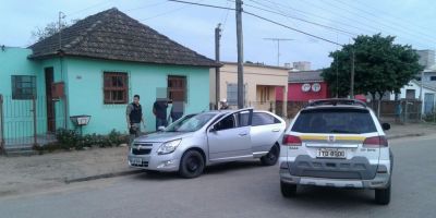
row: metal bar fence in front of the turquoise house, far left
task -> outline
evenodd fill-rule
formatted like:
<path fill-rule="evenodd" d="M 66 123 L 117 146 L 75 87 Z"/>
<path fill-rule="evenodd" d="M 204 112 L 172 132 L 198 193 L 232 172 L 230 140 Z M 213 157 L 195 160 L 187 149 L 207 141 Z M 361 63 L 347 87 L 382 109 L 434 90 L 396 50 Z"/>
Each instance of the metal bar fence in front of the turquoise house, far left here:
<path fill-rule="evenodd" d="M 46 96 L 19 100 L 2 95 L 0 99 L 0 142 L 3 148 L 47 144 L 55 141 L 56 129 L 65 126 L 64 100 L 47 99 Z"/>

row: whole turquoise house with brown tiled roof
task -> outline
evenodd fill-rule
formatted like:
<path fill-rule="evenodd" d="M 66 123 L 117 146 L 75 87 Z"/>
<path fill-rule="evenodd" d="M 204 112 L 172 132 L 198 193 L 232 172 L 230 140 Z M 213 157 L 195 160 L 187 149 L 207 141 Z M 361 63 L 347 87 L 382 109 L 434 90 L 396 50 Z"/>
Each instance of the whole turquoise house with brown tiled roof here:
<path fill-rule="evenodd" d="M 185 113 L 209 108 L 216 66 L 114 8 L 90 15 L 28 48 L 0 48 L 0 140 L 32 144 L 35 132 L 75 129 L 70 117 L 82 114 L 90 116 L 84 134 L 126 132 L 125 108 L 135 94 L 154 131 L 159 95 L 182 96 Z"/>

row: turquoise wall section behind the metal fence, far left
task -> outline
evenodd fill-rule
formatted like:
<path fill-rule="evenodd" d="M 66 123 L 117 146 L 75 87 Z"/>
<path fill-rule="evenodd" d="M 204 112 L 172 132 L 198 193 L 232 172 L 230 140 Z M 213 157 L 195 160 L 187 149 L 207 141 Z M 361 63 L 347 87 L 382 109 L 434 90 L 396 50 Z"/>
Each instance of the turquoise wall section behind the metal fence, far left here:
<path fill-rule="evenodd" d="M 47 132 L 47 97 L 45 68 L 53 68 L 55 82 L 66 77 L 66 69 L 59 58 L 48 60 L 31 60 L 32 49 L 5 47 L 0 50 L 0 94 L 3 95 L 4 135 L 7 138 L 21 138 L 27 144 L 26 137 L 34 135 L 33 101 L 31 99 L 12 99 L 12 75 L 36 76 L 36 129 L 37 134 Z M 62 69 L 62 70 L 61 70 Z M 62 72 L 63 73 L 62 73 Z M 50 100 L 50 99 L 49 99 Z M 55 101 L 56 128 L 64 126 L 63 100 Z"/>

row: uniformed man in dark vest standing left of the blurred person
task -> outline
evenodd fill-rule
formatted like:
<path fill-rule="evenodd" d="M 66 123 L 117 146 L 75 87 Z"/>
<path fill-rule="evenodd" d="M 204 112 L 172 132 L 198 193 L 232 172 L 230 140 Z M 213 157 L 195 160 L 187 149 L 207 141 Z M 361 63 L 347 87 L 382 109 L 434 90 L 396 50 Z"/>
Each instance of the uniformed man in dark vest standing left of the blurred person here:
<path fill-rule="evenodd" d="M 131 136 L 131 142 L 141 134 L 141 122 L 144 124 L 143 108 L 140 104 L 140 95 L 133 96 L 133 102 L 128 105 L 125 110 L 128 129 Z M 144 124 L 145 126 L 145 124 Z"/>

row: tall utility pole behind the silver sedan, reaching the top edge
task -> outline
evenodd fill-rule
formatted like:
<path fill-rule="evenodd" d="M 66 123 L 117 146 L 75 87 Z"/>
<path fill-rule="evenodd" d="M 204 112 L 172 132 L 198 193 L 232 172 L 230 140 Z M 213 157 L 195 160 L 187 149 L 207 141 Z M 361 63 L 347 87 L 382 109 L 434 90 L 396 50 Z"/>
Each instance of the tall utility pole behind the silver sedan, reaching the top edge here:
<path fill-rule="evenodd" d="M 238 108 L 244 108 L 244 52 L 242 40 L 242 0 L 237 0 L 237 41 L 238 41 Z"/>

